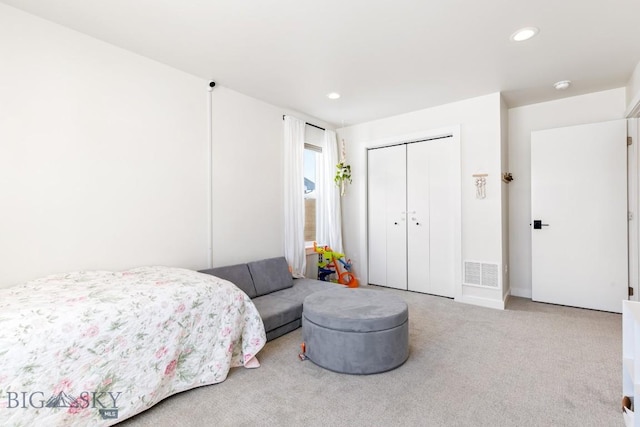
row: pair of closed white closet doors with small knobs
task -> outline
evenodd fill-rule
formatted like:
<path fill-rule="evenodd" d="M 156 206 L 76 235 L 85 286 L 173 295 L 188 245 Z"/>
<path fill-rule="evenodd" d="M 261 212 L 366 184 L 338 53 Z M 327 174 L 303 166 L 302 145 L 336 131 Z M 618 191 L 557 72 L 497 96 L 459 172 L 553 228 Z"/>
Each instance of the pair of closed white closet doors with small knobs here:
<path fill-rule="evenodd" d="M 460 159 L 453 139 L 367 151 L 370 284 L 454 297 Z"/>

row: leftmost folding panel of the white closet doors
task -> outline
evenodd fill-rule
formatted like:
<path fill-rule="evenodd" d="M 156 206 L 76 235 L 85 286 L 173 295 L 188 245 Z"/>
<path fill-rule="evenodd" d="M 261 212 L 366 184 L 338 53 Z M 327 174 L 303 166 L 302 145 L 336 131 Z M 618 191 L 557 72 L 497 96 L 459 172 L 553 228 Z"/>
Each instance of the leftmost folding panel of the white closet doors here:
<path fill-rule="evenodd" d="M 387 167 L 382 149 L 367 152 L 369 283 L 387 282 Z"/>

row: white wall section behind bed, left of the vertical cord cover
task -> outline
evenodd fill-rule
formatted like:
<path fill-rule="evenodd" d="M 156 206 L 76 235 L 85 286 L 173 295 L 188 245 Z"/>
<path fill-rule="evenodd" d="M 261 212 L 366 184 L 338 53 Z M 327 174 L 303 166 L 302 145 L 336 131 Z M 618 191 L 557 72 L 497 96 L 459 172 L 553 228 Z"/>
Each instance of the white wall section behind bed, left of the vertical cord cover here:
<path fill-rule="evenodd" d="M 0 287 L 206 265 L 206 82 L 4 5 L 0 40 Z"/>

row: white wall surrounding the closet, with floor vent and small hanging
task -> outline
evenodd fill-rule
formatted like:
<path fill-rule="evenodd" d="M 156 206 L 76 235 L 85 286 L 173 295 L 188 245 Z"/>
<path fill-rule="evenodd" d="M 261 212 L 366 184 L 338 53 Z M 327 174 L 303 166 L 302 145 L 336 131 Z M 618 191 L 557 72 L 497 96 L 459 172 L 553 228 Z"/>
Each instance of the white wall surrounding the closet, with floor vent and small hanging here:
<path fill-rule="evenodd" d="M 367 282 L 366 149 L 376 141 L 460 126 L 462 170 L 462 259 L 496 263 L 503 268 L 500 94 L 429 108 L 339 129 L 353 184 L 343 197 L 345 252 L 358 278 Z M 488 173 L 487 198 L 475 198 L 472 174 Z M 461 266 L 462 268 L 462 266 Z M 463 287 L 461 299 L 500 307 L 502 292 Z"/>

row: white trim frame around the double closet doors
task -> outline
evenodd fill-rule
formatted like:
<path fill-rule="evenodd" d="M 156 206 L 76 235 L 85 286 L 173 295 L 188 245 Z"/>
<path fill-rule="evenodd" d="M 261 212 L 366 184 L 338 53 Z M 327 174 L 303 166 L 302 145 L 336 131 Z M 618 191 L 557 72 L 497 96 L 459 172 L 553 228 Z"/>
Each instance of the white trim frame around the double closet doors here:
<path fill-rule="evenodd" d="M 411 142 L 417 142 L 423 139 L 434 139 L 445 136 L 451 136 L 453 144 L 453 157 L 458 161 L 454 165 L 456 173 L 454 174 L 454 181 L 451 183 L 452 188 L 458 194 L 458 197 L 454 198 L 454 263 L 456 268 L 454 269 L 454 299 L 459 301 L 462 298 L 462 164 L 460 158 L 460 126 L 448 126 L 437 129 L 428 129 L 420 132 L 414 132 L 404 135 L 396 135 L 392 137 L 377 139 L 369 141 L 365 144 L 365 159 L 367 158 L 368 150 L 372 148 L 383 148 L 392 145 L 406 144 Z M 365 176 L 369 176 L 368 161 L 365 161 Z M 368 181 L 368 180 L 367 180 Z M 365 206 L 368 210 L 369 207 L 369 183 L 365 183 Z M 367 275 L 369 272 L 369 213 L 365 215 L 365 247 L 366 247 L 366 264 Z M 368 283 L 369 278 L 366 278 Z"/>

